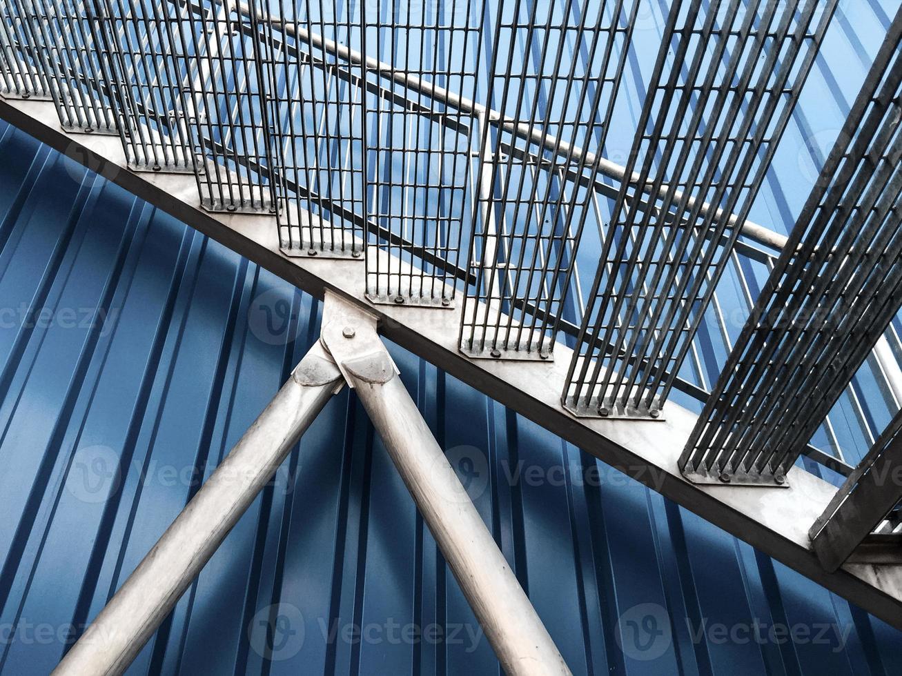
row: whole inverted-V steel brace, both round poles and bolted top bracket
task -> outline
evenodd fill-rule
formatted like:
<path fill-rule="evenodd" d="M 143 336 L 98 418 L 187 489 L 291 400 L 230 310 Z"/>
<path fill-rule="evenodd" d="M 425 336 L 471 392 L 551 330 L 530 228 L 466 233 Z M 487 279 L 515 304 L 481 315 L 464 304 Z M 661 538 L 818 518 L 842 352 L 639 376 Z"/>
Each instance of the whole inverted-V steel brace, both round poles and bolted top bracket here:
<path fill-rule="evenodd" d="M 569 674 L 526 593 L 398 376 L 376 319 L 327 294 L 320 342 L 57 668 L 121 674 L 327 401 L 355 388 L 504 671 Z"/>

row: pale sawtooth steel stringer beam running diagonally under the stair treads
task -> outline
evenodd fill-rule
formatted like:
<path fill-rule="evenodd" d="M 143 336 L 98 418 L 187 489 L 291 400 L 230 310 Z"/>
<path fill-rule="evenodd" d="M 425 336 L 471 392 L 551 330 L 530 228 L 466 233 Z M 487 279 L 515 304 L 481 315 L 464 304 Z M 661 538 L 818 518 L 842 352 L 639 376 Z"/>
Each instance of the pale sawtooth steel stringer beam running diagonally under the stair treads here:
<path fill-rule="evenodd" d="M 817 560 L 807 531 L 836 492 L 826 481 L 794 468 L 788 489 L 696 485 L 677 460 L 697 416 L 674 403 L 665 422 L 571 416 L 560 405 L 572 356 L 566 345 L 551 362 L 471 360 L 458 350 L 459 309 L 369 304 L 354 261 L 285 256 L 274 216 L 203 210 L 194 178 L 130 171 L 117 138 L 64 132 L 52 104 L 0 101 L 0 117 L 314 297 L 328 290 L 368 307 L 383 337 L 902 629 L 902 565 L 847 562 L 827 572 Z"/>

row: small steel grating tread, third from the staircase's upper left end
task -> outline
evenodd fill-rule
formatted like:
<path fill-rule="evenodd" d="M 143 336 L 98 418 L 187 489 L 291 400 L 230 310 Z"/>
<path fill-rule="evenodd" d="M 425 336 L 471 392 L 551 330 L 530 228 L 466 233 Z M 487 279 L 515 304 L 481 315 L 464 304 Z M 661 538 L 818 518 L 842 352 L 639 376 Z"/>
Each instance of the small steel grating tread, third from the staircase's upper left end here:
<path fill-rule="evenodd" d="M 191 71 L 176 5 L 154 0 L 92 0 L 98 49 L 106 60 L 116 124 L 137 171 L 195 169 L 187 96 Z M 198 12 L 200 12 L 198 7 Z M 186 105 L 188 109 L 186 110 Z"/>

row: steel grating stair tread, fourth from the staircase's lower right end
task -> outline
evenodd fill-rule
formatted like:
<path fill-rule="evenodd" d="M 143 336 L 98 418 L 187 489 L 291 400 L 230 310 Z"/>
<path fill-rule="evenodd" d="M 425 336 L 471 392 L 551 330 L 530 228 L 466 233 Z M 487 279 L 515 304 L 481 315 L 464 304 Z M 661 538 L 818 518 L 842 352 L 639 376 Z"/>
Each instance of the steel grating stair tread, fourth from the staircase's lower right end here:
<path fill-rule="evenodd" d="M 585 225 L 597 226 L 595 182 L 638 11 L 638 0 L 517 2 L 496 19 L 474 187 L 476 280 L 461 325 L 473 357 L 553 351 L 575 250 Z"/>

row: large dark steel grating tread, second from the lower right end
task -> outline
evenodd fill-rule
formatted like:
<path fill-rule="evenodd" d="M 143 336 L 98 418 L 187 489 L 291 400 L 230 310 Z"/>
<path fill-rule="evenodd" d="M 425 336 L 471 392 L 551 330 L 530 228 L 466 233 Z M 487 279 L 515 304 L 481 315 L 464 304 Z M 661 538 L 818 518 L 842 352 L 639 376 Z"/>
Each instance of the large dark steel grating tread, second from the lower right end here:
<path fill-rule="evenodd" d="M 902 9 L 680 459 L 783 483 L 902 305 Z"/>

